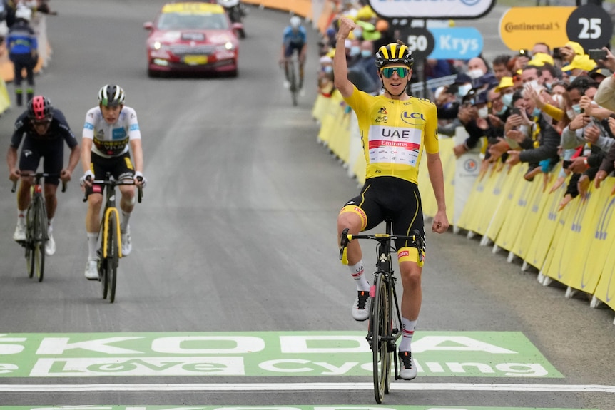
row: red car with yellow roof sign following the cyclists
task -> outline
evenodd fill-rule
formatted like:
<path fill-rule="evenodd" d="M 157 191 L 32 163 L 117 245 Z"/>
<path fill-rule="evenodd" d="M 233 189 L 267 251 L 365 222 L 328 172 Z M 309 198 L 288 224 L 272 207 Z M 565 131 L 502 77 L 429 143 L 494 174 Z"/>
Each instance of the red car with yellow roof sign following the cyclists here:
<path fill-rule="evenodd" d="M 237 76 L 242 24 L 232 24 L 223 6 L 203 2 L 169 3 L 156 21 L 143 27 L 148 76 L 161 73 L 225 73 Z"/>

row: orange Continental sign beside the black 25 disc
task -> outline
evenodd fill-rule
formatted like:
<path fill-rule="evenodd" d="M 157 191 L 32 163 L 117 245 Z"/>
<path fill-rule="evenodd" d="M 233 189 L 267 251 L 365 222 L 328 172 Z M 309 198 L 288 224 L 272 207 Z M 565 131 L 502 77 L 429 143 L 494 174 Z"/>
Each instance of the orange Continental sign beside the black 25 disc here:
<path fill-rule="evenodd" d="M 502 16 L 499 36 L 511 50 L 535 43 L 561 47 L 568 41 L 566 21 L 576 7 L 512 7 Z"/>

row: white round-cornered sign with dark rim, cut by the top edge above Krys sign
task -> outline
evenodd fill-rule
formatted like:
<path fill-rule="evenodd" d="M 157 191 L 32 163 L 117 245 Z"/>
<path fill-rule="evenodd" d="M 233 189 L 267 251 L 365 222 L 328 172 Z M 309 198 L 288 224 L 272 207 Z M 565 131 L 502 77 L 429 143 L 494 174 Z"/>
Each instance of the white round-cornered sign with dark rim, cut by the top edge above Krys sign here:
<path fill-rule="evenodd" d="M 370 0 L 380 16 L 412 19 L 477 19 L 494 5 L 495 0 Z"/>

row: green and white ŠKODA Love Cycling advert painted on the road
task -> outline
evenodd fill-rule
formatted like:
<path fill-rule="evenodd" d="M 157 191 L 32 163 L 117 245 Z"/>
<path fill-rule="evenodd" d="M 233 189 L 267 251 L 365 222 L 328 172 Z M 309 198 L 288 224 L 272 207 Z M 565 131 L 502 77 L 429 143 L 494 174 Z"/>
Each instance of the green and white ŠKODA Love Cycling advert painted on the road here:
<path fill-rule="evenodd" d="M 519 332 L 421 332 L 422 376 L 561 377 Z M 0 377 L 367 376 L 365 332 L 0 334 Z"/>

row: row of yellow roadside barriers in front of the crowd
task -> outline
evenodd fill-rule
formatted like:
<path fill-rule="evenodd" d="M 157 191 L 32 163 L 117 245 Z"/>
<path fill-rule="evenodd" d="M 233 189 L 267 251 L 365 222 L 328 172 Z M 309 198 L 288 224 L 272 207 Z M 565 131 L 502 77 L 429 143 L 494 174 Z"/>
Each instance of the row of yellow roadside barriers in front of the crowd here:
<path fill-rule="evenodd" d="M 326 101 L 328 100 L 328 101 Z M 326 143 L 360 184 L 365 183 L 365 157 L 352 150 L 355 128 L 349 126 L 350 115 L 340 93 L 317 99 L 312 111 L 322 118 L 318 139 Z M 352 117 L 352 121 L 356 121 Z M 454 170 L 453 138 L 440 140 L 440 157 L 444 170 L 447 211 L 453 209 Z M 355 158 L 350 158 L 349 153 Z M 604 302 L 615 309 L 615 178 L 609 177 L 601 188 L 590 188 L 586 198 L 580 196 L 559 210 L 568 179 L 550 192 L 561 167 L 552 173 L 537 175 L 532 182 L 524 179 L 527 164 L 497 163 L 482 178 L 474 181 L 458 227 L 492 240 L 497 247 L 516 255 L 524 264 L 540 270 L 539 280 L 557 280 L 569 287 L 566 297 L 578 290 L 594 296 L 596 307 Z M 420 163 L 419 188 L 423 193 L 425 217 L 433 217 L 436 204 L 426 161 Z M 449 215 L 449 220 L 451 216 Z M 495 248 L 494 248 L 495 249 Z M 547 285 L 544 281 L 543 285 Z"/>

